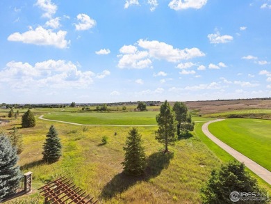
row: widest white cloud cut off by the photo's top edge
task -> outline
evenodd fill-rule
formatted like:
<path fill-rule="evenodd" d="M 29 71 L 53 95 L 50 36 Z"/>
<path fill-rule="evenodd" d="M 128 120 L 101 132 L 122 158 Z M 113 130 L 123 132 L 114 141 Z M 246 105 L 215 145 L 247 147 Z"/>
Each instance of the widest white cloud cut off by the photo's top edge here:
<path fill-rule="evenodd" d="M 188 8 L 199 9 L 207 3 L 207 0 L 172 0 L 168 4 L 171 9 L 182 10 Z"/>

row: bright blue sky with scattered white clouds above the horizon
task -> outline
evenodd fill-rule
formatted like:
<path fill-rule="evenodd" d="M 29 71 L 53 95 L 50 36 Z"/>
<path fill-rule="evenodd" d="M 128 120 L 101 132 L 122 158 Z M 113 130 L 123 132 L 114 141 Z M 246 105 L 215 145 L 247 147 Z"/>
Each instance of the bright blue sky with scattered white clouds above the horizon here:
<path fill-rule="evenodd" d="M 0 102 L 271 96 L 271 1 L 0 1 Z"/>

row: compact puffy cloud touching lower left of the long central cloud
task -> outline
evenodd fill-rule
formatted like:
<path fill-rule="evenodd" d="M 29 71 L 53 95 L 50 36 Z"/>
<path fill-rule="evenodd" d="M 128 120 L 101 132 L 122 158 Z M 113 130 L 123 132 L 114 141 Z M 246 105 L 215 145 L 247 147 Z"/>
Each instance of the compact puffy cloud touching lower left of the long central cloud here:
<path fill-rule="evenodd" d="M 149 56 L 149 54 L 146 51 L 136 52 L 136 54 L 124 54 L 124 56 L 120 58 L 117 66 L 119 68 L 149 68 L 151 60 L 147 58 L 147 56 Z"/>

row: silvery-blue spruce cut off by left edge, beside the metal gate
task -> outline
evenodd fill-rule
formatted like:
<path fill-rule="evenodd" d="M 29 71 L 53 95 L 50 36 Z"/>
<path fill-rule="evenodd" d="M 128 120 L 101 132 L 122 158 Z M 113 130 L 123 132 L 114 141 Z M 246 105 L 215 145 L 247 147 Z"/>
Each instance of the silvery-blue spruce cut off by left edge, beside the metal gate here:
<path fill-rule="evenodd" d="M 16 148 L 10 144 L 8 137 L 0 133 L 0 202 L 13 194 L 22 173 L 17 164 Z"/>

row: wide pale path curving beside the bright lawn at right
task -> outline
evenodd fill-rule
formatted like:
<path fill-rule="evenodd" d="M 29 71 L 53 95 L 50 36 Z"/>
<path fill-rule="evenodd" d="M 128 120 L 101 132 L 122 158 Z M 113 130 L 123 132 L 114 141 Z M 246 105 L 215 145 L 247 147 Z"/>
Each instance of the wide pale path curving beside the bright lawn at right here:
<path fill-rule="evenodd" d="M 211 134 L 211 132 L 209 132 L 208 125 L 211 123 L 221 121 L 221 120 L 224 120 L 224 119 L 211 120 L 208 123 L 204 123 L 204 125 L 202 125 L 202 132 L 204 132 L 204 134 L 206 134 L 206 136 L 208 136 L 209 139 L 211 139 L 214 143 L 216 143 L 217 146 L 220 146 L 220 148 L 222 148 L 223 150 L 228 152 L 231 156 L 236 158 L 236 160 L 238 160 L 239 162 L 244 162 L 245 166 L 247 166 L 247 168 L 249 168 L 251 171 L 256 173 L 256 175 L 258 175 L 263 180 L 265 180 L 265 182 L 268 182 L 268 184 L 271 185 L 271 172 L 270 171 L 268 171 L 266 168 L 263 168 L 263 166 L 257 164 L 256 162 L 252 161 L 252 159 L 249 159 L 245 155 L 234 150 L 233 148 L 228 146 L 226 143 L 220 141 L 215 136 L 213 136 L 213 134 Z"/>

